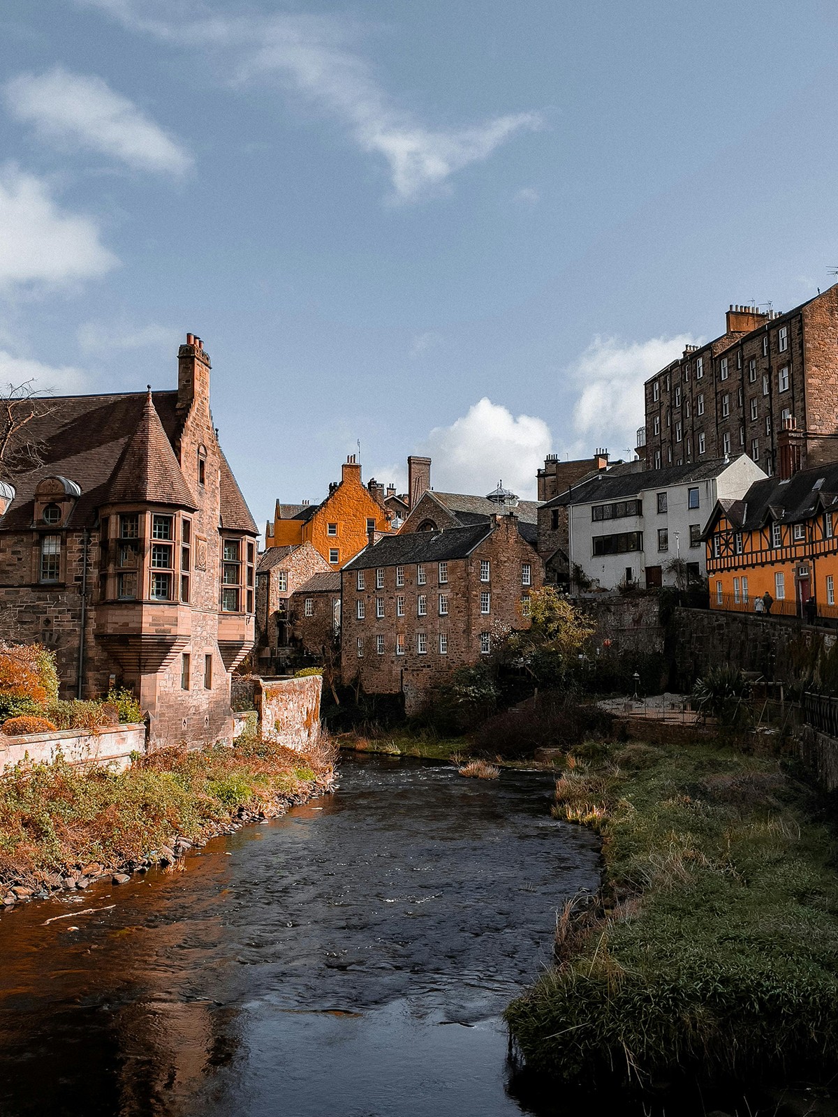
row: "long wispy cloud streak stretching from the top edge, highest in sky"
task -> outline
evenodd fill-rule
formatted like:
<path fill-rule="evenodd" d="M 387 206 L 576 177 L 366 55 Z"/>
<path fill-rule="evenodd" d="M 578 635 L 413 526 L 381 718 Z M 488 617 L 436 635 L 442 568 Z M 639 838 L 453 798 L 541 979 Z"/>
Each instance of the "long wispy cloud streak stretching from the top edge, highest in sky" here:
<path fill-rule="evenodd" d="M 324 16 L 226 16 L 160 0 L 79 0 L 134 30 L 220 52 L 235 80 L 278 78 L 339 120 L 362 151 L 383 157 L 393 197 L 413 201 L 486 160 L 515 133 L 542 124 L 537 113 L 508 113 L 461 128 L 431 128 L 400 108 L 368 61 L 351 48 L 344 23 Z M 173 15 L 180 12 L 180 16 Z"/>

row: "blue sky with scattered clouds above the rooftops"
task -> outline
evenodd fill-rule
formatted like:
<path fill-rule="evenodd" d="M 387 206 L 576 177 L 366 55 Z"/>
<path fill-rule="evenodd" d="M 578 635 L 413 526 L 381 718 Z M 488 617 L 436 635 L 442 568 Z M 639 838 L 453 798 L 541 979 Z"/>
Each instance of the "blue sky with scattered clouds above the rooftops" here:
<path fill-rule="evenodd" d="M 177 384 L 257 518 L 432 457 L 535 493 L 838 265 L 829 0 L 4 0 L 0 391 Z"/>

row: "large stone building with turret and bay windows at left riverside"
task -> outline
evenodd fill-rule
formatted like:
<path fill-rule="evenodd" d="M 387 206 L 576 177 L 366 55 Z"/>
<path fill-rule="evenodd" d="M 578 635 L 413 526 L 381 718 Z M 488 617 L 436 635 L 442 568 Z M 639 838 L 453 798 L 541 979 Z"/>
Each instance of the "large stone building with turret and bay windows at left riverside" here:
<path fill-rule="evenodd" d="M 3 459 L 0 639 L 51 648 L 63 697 L 131 687 L 152 744 L 228 739 L 257 528 L 212 424 L 201 340 L 180 346 L 177 391 L 10 413 L 28 418 Z"/>

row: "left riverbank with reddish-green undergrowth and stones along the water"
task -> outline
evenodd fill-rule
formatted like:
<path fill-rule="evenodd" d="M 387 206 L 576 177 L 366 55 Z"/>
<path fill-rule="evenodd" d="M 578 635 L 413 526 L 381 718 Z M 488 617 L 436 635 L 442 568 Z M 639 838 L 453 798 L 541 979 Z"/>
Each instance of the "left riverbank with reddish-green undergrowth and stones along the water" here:
<path fill-rule="evenodd" d="M 334 751 L 246 735 L 232 748 L 169 748 L 124 772 L 18 765 L 0 776 L 0 906 L 125 882 L 192 847 L 328 791 Z"/>

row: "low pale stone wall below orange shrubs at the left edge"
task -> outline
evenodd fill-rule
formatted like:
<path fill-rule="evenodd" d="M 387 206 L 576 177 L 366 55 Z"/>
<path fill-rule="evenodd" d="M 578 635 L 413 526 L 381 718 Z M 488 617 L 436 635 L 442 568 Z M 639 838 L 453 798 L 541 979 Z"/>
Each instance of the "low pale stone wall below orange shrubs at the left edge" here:
<path fill-rule="evenodd" d="M 51 764 L 59 753 L 69 764 L 114 764 L 122 771 L 131 763 L 132 753 L 144 752 L 144 725 L 113 725 L 95 733 L 55 729 L 19 737 L 0 734 L 0 772 L 23 760 L 34 764 Z"/>

